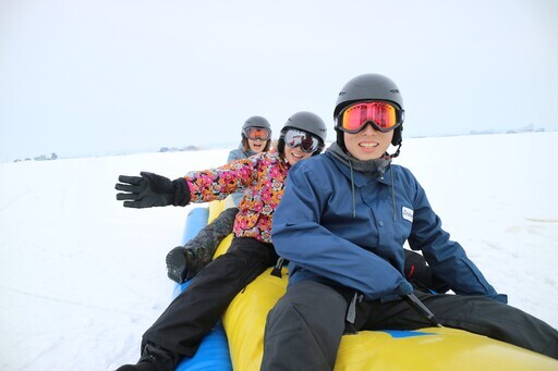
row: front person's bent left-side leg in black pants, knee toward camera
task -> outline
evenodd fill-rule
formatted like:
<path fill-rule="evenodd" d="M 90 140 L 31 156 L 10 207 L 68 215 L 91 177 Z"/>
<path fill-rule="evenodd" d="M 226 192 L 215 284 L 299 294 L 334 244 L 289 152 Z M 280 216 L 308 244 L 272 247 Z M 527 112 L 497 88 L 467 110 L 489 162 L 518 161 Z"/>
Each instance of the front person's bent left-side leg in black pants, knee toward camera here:
<path fill-rule="evenodd" d="M 262 370 L 333 370 L 347 300 L 333 288 L 301 282 L 267 317 Z"/>

